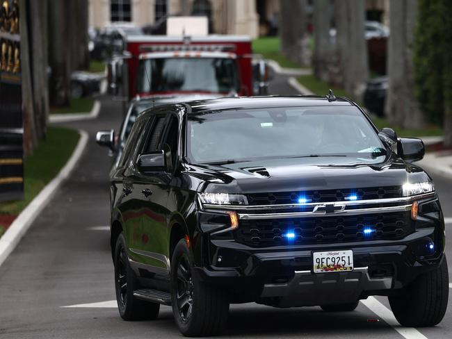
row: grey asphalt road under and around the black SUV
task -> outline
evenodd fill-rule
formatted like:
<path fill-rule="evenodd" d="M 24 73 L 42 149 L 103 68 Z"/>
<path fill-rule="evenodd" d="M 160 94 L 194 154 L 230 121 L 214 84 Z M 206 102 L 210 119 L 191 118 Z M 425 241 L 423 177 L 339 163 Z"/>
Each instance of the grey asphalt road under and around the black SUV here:
<path fill-rule="evenodd" d="M 296 94 L 277 77 L 273 93 Z M 120 104 L 102 97 L 94 121 L 67 124 L 84 129 L 90 142 L 71 178 L 38 216 L 0 267 L 0 338 L 172 338 L 180 337 L 169 307 L 158 320 L 124 322 L 115 306 L 108 244 L 110 159 L 95 144 L 95 131 L 118 129 Z M 452 178 L 436 176 L 446 217 L 452 217 Z M 452 224 L 447 224 L 448 229 Z M 452 263 L 452 244 L 447 240 Z M 452 272 L 452 268 L 451 268 Z M 374 299 L 375 300 L 375 299 Z M 452 338 L 452 299 L 443 322 L 429 329 L 400 329 L 385 317 L 387 299 L 360 303 L 350 313 L 318 307 L 277 309 L 232 305 L 226 337 L 249 338 Z M 381 303 L 381 304 L 380 304 Z M 65 307 L 70 306 L 70 307 Z M 369 307 L 368 307 L 369 306 Z M 379 315 L 377 315 L 378 313 Z M 372 321 L 369 321 L 372 320 Z M 379 321 L 376 321 L 379 320 Z M 422 336 L 423 335 L 423 336 Z"/>

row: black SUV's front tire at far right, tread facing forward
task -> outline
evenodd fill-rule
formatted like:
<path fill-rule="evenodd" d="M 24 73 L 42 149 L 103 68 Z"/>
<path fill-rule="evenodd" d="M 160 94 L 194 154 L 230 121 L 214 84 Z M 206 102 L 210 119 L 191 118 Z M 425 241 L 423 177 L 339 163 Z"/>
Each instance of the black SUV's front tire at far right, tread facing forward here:
<path fill-rule="evenodd" d="M 435 326 L 446 313 L 449 299 L 449 273 L 446 257 L 436 270 L 421 274 L 397 295 L 389 297 L 389 304 L 402 326 Z"/>

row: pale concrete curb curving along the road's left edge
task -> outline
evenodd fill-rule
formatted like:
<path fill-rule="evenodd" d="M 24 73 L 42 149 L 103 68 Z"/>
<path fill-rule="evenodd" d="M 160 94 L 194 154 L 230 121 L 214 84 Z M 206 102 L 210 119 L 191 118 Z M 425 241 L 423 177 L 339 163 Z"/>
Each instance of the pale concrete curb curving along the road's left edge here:
<path fill-rule="evenodd" d="M 22 213 L 17 216 L 16 220 L 11 224 L 3 236 L 0 238 L 0 266 L 8 258 L 10 253 L 15 249 L 19 241 L 22 239 L 26 231 L 33 224 L 35 217 L 45 208 L 51 197 L 54 196 L 56 190 L 60 187 L 61 183 L 67 179 L 67 177 L 74 169 L 75 165 L 79 162 L 86 144 L 88 144 L 88 133 L 86 131 L 79 131 L 80 139 L 77 143 L 72 156 L 67 161 L 66 165 L 60 170 L 60 172 L 52 179 L 41 192 L 33 199 Z"/>

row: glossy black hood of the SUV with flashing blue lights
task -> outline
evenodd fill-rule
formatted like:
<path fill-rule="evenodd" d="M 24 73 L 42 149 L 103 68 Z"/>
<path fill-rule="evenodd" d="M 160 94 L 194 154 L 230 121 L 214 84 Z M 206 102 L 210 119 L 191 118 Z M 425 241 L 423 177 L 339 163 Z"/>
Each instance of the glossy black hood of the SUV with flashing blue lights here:
<path fill-rule="evenodd" d="M 421 167 L 395 155 L 378 164 L 354 158 L 296 158 L 190 165 L 187 174 L 200 181 L 199 191 L 242 194 L 396 186 L 431 180 Z"/>

